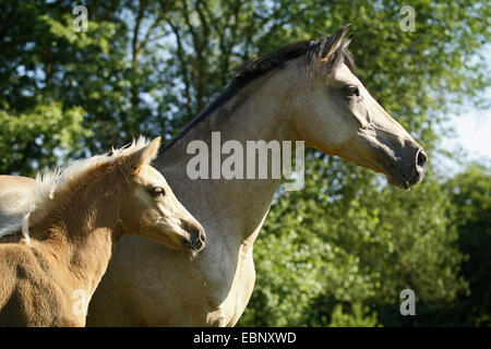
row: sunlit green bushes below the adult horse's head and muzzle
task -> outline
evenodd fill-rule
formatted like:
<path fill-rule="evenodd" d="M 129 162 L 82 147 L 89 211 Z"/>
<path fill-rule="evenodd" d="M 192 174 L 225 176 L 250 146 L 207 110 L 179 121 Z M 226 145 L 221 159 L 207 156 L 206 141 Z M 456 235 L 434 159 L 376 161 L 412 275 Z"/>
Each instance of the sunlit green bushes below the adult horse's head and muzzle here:
<path fill-rule="evenodd" d="M 404 325 L 403 289 L 433 308 L 467 290 L 446 216 L 451 201 L 431 174 L 400 192 L 373 185 L 357 168 L 332 184 L 337 163 L 319 164 L 307 165 L 315 186 L 285 193 L 272 208 L 254 246 L 256 287 L 240 325 L 327 326 L 349 316 L 345 325 Z"/>

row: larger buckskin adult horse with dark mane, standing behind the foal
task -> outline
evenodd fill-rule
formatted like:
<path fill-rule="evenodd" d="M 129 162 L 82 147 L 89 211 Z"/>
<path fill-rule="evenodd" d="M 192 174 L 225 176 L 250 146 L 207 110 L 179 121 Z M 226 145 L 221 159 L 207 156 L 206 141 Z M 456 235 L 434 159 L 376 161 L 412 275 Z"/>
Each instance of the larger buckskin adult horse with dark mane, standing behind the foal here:
<path fill-rule="evenodd" d="M 212 148 L 213 131 L 240 144 L 304 141 L 404 189 L 422 179 L 421 146 L 354 74 L 350 38 L 343 40 L 348 27 L 246 63 L 164 149 L 155 167 L 206 230 L 207 246 L 190 262 L 144 239 L 123 238 L 89 304 L 88 325 L 233 326 L 239 320 L 255 280 L 252 245 L 279 179 L 191 180 L 188 144 L 201 140 Z M 0 188 L 0 207 L 7 206 Z"/>

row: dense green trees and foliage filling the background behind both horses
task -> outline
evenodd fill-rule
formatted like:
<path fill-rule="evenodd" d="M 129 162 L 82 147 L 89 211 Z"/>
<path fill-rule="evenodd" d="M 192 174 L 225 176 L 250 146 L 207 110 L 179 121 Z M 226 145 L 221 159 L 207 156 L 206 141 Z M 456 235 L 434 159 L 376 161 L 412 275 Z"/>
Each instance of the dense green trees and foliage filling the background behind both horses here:
<path fill-rule="evenodd" d="M 246 59 L 346 22 L 357 75 L 430 164 L 450 108 L 487 103 L 486 2 L 414 0 L 415 32 L 393 0 L 80 4 L 88 31 L 77 33 L 72 1 L 0 1 L 1 173 L 32 176 L 140 133 L 170 140 Z M 306 189 L 278 191 L 254 245 L 239 325 L 491 325 L 490 169 L 436 173 L 402 192 L 309 152 Z M 417 316 L 399 314 L 405 288 Z"/>

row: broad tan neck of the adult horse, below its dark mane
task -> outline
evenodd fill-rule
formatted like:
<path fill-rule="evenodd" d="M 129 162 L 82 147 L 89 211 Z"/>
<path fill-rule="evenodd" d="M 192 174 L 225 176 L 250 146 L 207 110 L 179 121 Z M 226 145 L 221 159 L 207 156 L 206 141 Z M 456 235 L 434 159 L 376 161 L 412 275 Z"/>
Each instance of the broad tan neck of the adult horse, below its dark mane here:
<path fill-rule="evenodd" d="M 253 81 L 225 105 L 195 123 L 154 163 L 178 200 L 203 224 L 209 245 L 214 243 L 216 234 L 217 241 L 231 238 L 232 243 L 252 243 L 270 209 L 279 180 L 225 180 L 223 177 L 191 180 L 187 174 L 187 165 L 194 155 L 187 154 L 187 146 L 194 140 L 204 141 L 208 146 L 211 168 L 212 132 L 220 133 L 221 144 L 228 140 L 239 141 L 244 149 L 244 158 L 246 141 L 291 140 L 285 122 L 288 115 L 285 96 L 268 87 L 267 80 L 268 76 Z M 223 156 L 221 160 L 226 157 Z"/>

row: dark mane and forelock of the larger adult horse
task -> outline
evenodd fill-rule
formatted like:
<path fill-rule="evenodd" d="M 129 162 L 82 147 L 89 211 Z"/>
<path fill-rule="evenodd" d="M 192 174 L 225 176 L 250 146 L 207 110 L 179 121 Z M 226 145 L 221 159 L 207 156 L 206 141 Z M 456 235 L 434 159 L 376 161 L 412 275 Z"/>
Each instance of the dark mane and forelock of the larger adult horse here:
<path fill-rule="evenodd" d="M 193 129 L 197 123 L 202 122 L 206 117 L 212 115 L 219 107 L 229 101 L 239 91 L 243 89 L 249 83 L 255 79 L 265 75 L 276 68 L 283 67 L 286 62 L 307 55 L 308 73 L 310 75 L 318 74 L 319 62 L 324 53 L 333 45 L 333 36 L 326 36 L 320 41 L 302 40 L 284 46 L 271 53 L 251 59 L 243 63 L 233 74 L 230 83 L 225 91 L 213 100 L 196 118 L 194 118 L 184 130 L 172 141 L 170 141 L 160 153 L 170 148 L 180 139 L 182 139 L 189 130 Z M 327 75 L 334 72 L 340 64 L 345 63 L 349 70 L 355 73 L 355 61 L 351 52 L 342 47 L 333 53 L 327 69 Z"/>

